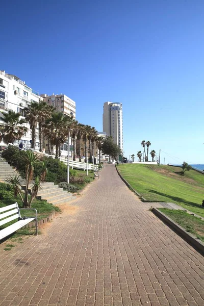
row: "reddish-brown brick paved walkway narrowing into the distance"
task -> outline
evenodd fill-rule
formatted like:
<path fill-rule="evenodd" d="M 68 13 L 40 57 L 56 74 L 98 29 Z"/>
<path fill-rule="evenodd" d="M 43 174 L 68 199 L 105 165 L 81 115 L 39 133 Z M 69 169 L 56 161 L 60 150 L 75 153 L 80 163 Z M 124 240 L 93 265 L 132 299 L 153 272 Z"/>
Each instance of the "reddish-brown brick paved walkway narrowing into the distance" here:
<path fill-rule="evenodd" d="M 77 213 L 60 215 L 46 236 L 0 246 L 1 306 L 204 305 L 203 257 L 114 166 L 73 203 Z"/>

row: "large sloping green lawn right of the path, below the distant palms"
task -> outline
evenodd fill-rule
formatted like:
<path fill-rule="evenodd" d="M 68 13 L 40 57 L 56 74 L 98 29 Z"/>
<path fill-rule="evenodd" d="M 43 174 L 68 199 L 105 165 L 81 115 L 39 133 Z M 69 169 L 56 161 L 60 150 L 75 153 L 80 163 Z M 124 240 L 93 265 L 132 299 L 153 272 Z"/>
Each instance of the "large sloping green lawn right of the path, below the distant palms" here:
<path fill-rule="evenodd" d="M 145 199 L 173 202 L 204 217 L 204 175 L 195 170 L 181 175 L 172 166 L 123 164 L 117 166 L 124 179 Z"/>

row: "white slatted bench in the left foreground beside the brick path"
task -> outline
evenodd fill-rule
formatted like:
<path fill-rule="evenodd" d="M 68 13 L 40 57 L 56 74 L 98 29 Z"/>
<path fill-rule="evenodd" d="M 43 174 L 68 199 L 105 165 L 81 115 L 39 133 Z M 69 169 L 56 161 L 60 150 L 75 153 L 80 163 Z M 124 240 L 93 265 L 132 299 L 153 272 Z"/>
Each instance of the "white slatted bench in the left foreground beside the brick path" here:
<path fill-rule="evenodd" d="M 34 210 L 36 216 L 35 217 L 21 217 L 20 210 Z M 37 210 L 34 208 L 19 208 L 18 203 L 14 203 L 5 207 L 0 208 L 0 226 L 18 219 L 15 223 L 3 228 L 0 230 L 0 240 L 15 233 L 19 228 L 28 224 L 29 222 L 35 220 L 36 224 L 36 235 L 38 235 L 38 216 Z"/>

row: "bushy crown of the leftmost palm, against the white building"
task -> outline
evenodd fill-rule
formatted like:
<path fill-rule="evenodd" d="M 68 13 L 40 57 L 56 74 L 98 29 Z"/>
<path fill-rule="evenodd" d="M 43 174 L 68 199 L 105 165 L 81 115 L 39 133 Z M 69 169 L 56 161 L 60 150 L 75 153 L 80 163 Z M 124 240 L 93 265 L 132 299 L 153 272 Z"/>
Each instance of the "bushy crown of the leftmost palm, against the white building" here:
<path fill-rule="evenodd" d="M 3 123 L 0 125 L 0 141 L 4 141 L 6 144 L 14 143 L 16 140 L 20 140 L 21 137 L 28 131 L 27 127 L 23 126 L 26 121 L 20 119 L 21 114 L 9 110 L 8 113 L 3 114 L 1 118 Z"/>

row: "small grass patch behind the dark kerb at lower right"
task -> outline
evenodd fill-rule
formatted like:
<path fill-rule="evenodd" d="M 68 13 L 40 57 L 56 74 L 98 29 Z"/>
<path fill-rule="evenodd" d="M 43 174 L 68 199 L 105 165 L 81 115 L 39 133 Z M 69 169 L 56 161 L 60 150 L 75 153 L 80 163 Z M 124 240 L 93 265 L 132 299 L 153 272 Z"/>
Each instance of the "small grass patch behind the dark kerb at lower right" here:
<path fill-rule="evenodd" d="M 204 221 L 180 210 L 159 208 L 159 210 L 181 225 L 185 230 L 204 242 Z"/>

